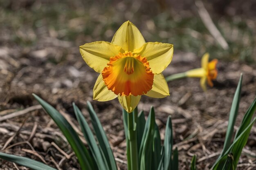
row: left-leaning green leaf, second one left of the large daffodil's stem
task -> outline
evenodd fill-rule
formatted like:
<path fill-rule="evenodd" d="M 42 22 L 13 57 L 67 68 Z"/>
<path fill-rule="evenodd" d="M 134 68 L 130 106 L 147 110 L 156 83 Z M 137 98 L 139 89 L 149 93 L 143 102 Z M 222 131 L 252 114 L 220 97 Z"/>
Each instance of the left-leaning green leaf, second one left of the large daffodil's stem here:
<path fill-rule="evenodd" d="M 99 146 L 103 152 L 103 155 L 105 155 L 107 159 L 108 166 L 110 167 L 110 170 L 117 170 L 115 157 L 113 155 L 110 144 L 108 143 L 108 138 L 106 136 L 106 133 L 103 130 L 103 127 L 101 126 L 101 122 L 99 121 L 99 118 L 97 117 L 97 114 L 95 113 L 92 107 L 92 104 L 89 101 L 87 101 L 87 106 L 88 106 L 88 111 L 91 117 L 92 126 L 95 131 L 95 135 L 99 141 Z"/>

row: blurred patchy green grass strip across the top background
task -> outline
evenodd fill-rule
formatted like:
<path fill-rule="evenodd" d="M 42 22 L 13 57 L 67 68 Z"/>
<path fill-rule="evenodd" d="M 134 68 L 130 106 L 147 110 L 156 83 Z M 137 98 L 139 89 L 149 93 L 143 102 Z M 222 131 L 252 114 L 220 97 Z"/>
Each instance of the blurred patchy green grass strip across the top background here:
<path fill-rule="evenodd" d="M 213 58 L 239 59 L 249 64 L 256 61 L 253 19 L 209 11 L 229 44 L 229 49 L 223 50 L 202 23 L 196 8 L 180 10 L 170 3 L 162 0 L 1 0 L 0 29 L 7 37 L 1 44 L 36 46 L 46 37 L 72 41 L 75 46 L 97 40 L 111 41 L 119 26 L 130 20 L 139 27 L 146 41 L 174 44 L 175 51 L 193 52 L 198 57 L 208 51 Z"/>

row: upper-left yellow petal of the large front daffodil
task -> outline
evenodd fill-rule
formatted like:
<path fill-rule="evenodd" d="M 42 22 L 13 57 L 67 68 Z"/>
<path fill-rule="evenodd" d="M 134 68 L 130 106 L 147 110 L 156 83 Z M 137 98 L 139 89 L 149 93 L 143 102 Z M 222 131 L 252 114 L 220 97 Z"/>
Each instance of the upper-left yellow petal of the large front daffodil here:
<path fill-rule="evenodd" d="M 107 66 L 110 57 L 114 57 L 121 51 L 121 47 L 110 42 L 97 41 L 80 46 L 80 53 L 86 64 L 101 73 Z"/>

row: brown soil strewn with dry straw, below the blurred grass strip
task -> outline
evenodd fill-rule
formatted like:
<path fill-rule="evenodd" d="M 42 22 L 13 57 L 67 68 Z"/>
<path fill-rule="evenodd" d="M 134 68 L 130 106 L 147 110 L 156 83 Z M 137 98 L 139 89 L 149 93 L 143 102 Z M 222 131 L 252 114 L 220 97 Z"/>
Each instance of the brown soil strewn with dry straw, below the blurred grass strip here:
<path fill-rule="evenodd" d="M 29 3 L 30 1 L 24 0 L 25 2 Z M 36 8 L 38 4 L 33 5 Z M 122 8 L 121 5 L 119 4 L 120 7 L 118 7 Z M 13 7 L 7 6 L 5 8 Z M 23 7 L 21 4 L 20 8 L 27 9 L 29 7 Z M 27 10 L 29 11 L 30 8 Z M 33 14 L 30 11 L 28 13 Z M 252 16 L 252 14 L 248 15 Z M 65 18 L 62 22 L 64 20 Z M 79 18 L 69 20 L 75 24 L 79 24 L 80 21 Z M 17 22 L 20 21 L 17 20 Z M 110 40 L 111 38 L 107 36 L 108 34 L 97 35 L 95 33 L 95 35 L 90 34 L 91 36 L 76 36 L 75 40 L 66 40 L 59 38 L 63 30 L 54 31 L 47 25 L 47 22 L 44 20 L 41 22 L 43 24 L 38 24 L 43 26 L 37 29 L 29 28 L 29 26 L 22 26 L 22 30 L 17 29 L 15 36 L 18 37 L 18 40 L 14 38 L 16 41 L 11 38 L 12 32 L 8 31 L 9 26 L 1 24 L 2 31 L 5 32 L 1 33 L 0 38 L 0 120 L 4 115 L 25 108 L 31 109 L 21 116 L 0 121 L 1 152 L 45 161 L 49 166 L 63 170 L 79 169 L 76 157 L 66 143 L 65 137 L 49 115 L 40 106 L 37 106 L 38 103 L 31 95 L 35 93 L 60 110 L 77 130 L 79 127 L 74 119 L 72 102 L 79 106 L 90 122 L 86 110 L 86 101 L 90 101 L 106 130 L 120 170 L 126 170 L 126 142 L 121 106 L 117 99 L 109 102 L 92 100 L 92 89 L 98 73 L 85 64 L 79 53 L 79 44 L 96 40 Z M 148 22 L 148 24 L 150 23 Z M 46 27 L 44 27 L 45 24 Z M 97 25 L 97 23 L 94 24 Z M 143 26 L 139 28 L 143 29 Z M 79 31 L 75 33 L 79 33 Z M 161 33 L 159 35 L 164 36 L 166 32 Z M 64 35 L 67 35 L 67 32 Z M 147 35 L 146 32 L 145 35 L 148 41 L 157 39 L 150 40 L 151 35 Z M 33 41 L 30 42 L 29 36 L 36 36 L 35 42 L 33 37 Z M 27 39 L 24 40 L 24 38 Z M 32 44 L 24 45 L 22 43 Z M 172 44 L 175 46 L 175 42 Z M 202 49 L 198 50 L 203 51 Z M 200 88 L 199 79 L 180 79 L 168 83 L 170 96 L 164 99 L 143 96 L 138 105 L 138 109 L 144 110 L 146 116 L 150 106 L 155 107 L 157 125 L 162 139 L 164 139 L 167 117 L 168 115 L 172 116 L 174 145 L 179 150 L 179 170 L 189 170 L 193 155 L 197 155 L 199 170 L 209 170 L 217 159 L 224 143 L 229 110 L 240 73 L 243 73 L 243 88 L 236 128 L 256 96 L 255 63 L 248 63 L 240 60 L 239 57 L 222 60 L 214 54 L 211 53 L 211 58 L 219 58 L 219 74 L 213 82 L 213 88 L 203 92 Z M 225 52 L 222 55 L 225 55 Z M 198 67 L 200 67 L 200 55 L 195 53 L 194 49 L 189 51 L 177 48 L 171 64 L 164 71 L 164 75 L 180 73 Z M 67 158 L 61 150 L 70 157 L 67 156 Z M 256 126 L 254 125 L 239 160 L 238 170 L 256 170 L 255 157 Z M 17 169 L 16 167 L 20 170 L 26 169 L 0 160 L 0 169 L 14 170 Z"/>

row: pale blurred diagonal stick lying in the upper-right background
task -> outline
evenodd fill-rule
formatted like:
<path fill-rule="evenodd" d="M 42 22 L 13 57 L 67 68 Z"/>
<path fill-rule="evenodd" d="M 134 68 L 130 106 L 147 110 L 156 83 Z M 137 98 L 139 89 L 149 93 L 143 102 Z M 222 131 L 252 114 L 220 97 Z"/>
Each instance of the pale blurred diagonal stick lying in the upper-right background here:
<path fill-rule="evenodd" d="M 195 5 L 198 7 L 198 13 L 204 26 L 209 30 L 211 35 L 217 40 L 220 46 L 227 50 L 229 49 L 229 45 L 227 44 L 226 40 L 221 35 L 220 31 L 214 25 L 213 21 L 211 20 L 211 16 L 209 15 L 208 11 L 205 9 L 204 4 L 201 0 L 195 1 Z"/>

